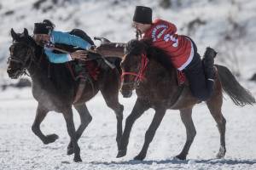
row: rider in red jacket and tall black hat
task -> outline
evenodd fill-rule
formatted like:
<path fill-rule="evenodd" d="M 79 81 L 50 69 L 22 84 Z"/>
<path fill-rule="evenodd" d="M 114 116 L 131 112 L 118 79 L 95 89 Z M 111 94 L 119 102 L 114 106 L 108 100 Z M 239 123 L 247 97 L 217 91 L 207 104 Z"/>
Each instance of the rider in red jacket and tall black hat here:
<path fill-rule="evenodd" d="M 166 51 L 170 63 L 185 73 L 191 93 L 197 99 L 209 99 L 214 84 L 213 58 L 217 54 L 212 48 L 207 48 L 201 60 L 195 42 L 189 37 L 178 35 L 177 27 L 171 22 L 160 19 L 152 22 L 152 9 L 148 7 L 136 7 L 133 26 L 137 29 L 137 35 L 150 39 L 154 47 Z"/>

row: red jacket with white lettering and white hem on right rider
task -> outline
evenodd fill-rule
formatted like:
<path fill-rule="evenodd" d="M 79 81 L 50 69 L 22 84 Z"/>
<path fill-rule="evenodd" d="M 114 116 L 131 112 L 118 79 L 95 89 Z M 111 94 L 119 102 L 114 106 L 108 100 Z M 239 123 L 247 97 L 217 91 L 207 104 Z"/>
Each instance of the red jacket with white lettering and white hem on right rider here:
<path fill-rule="evenodd" d="M 152 26 L 143 34 L 150 38 L 153 46 L 161 48 L 169 54 L 172 65 L 182 71 L 193 59 L 194 49 L 188 37 L 177 35 L 177 28 L 166 20 L 154 20 Z"/>

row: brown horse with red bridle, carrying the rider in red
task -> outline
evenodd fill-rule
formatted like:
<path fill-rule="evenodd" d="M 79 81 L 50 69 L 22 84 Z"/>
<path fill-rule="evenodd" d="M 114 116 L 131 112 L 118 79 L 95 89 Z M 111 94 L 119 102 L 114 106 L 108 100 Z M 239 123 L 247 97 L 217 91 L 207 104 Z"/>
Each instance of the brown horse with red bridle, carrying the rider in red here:
<path fill-rule="evenodd" d="M 167 109 L 179 110 L 181 120 L 186 128 L 187 139 L 183 150 L 176 156 L 179 160 L 185 160 L 190 145 L 195 138 L 195 126 L 191 117 L 192 108 L 200 103 L 192 96 L 189 86 L 178 86 L 177 69 L 167 59 L 166 52 L 152 46 L 152 42 L 145 40 L 131 40 L 125 45 L 125 57 L 121 61 L 122 85 L 121 94 L 125 98 L 131 97 L 132 90 L 136 89 L 137 100 L 125 120 L 125 129 L 120 142 L 117 157 L 126 155 L 127 145 L 133 123 L 149 108 L 153 108 L 154 118 L 145 133 L 143 148 L 134 157 L 135 160 L 143 160 L 147 154 L 148 146 L 154 139 L 154 134 L 160 126 L 160 122 Z M 223 65 L 215 65 L 214 89 L 206 104 L 220 133 L 220 147 L 217 157 L 225 155 L 225 124 L 222 114 L 223 104 L 222 89 L 230 96 L 236 105 L 253 105 L 255 99 L 245 88 L 241 87 L 230 70 Z"/>

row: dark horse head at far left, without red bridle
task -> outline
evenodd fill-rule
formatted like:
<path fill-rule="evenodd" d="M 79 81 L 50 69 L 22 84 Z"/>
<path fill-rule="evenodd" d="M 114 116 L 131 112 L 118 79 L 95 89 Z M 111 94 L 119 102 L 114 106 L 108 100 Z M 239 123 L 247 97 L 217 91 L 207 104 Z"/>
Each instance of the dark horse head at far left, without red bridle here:
<path fill-rule="evenodd" d="M 26 28 L 22 33 L 16 33 L 11 29 L 13 43 L 9 47 L 8 69 L 10 78 L 18 78 L 26 73 L 32 64 L 35 53 L 35 42 L 28 35 Z"/>

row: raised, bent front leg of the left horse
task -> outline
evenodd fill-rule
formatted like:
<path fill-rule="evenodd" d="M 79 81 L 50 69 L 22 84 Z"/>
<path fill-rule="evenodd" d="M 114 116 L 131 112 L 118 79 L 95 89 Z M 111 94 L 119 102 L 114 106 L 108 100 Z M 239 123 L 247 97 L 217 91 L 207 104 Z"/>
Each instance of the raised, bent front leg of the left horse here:
<path fill-rule="evenodd" d="M 45 109 L 42 105 L 38 105 L 37 114 L 32 124 L 32 132 L 35 133 L 38 136 L 38 138 L 43 141 L 44 144 L 53 143 L 56 139 L 59 138 L 58 135 L 56 135 L 55 133 L 45 136 L 40 129 L 40 124 L 44 121 L 44 118 L 48 112 L 49 111 Z"/>

